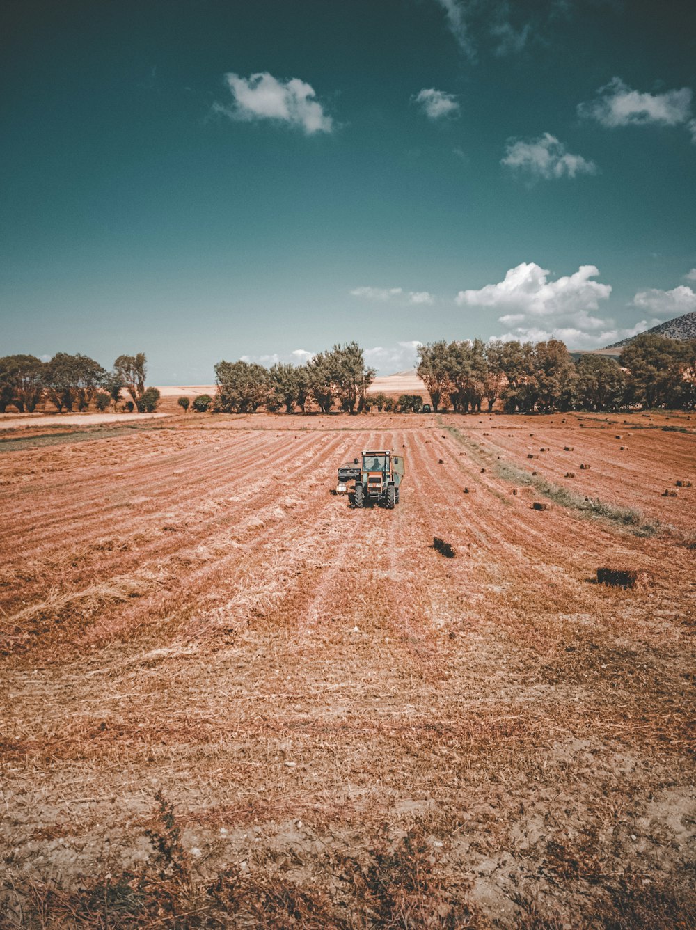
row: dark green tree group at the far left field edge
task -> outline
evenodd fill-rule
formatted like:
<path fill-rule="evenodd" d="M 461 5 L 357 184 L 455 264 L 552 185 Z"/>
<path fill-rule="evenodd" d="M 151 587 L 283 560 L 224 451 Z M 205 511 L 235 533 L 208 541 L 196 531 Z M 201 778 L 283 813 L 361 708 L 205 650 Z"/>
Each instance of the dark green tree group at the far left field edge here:
<path fill-rule="evenodd" d="M 63 410 L 115 408 L 121 392 L 132 398 L 125 402 L 141 413 L 154 410 L 160 399 L 156 388 L 147 388 L 147 359 L 144 352 L 119 355 L 111 371 L 93 358 L 77 352 L 57 352 L 48 362 L 34 355 L 6 355 L 0 358 L 0 413 L 15 406 L 20 413 L 32 413 L 42 402 Z"/>

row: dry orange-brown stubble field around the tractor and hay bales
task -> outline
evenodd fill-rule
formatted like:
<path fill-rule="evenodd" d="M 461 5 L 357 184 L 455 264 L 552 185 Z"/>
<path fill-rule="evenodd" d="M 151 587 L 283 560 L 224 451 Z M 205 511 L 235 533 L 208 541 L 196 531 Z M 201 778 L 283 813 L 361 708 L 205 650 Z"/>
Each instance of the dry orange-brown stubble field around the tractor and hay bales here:
<path fill-rule="evenodd" d="M 696 925 L 696 487 L 662 496 L 696 485 L 695 431 L 13 432 L 0 924 Z M 406 458 L 394 512 L 331 493 L 375 445 Z"/>

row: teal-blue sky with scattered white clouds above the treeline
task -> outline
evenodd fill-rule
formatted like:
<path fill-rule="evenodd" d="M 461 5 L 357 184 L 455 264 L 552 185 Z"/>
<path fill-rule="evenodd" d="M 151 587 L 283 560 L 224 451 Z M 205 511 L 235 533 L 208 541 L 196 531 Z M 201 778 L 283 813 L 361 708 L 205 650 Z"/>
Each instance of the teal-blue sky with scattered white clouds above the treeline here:
<path fill-rule="evenodd" d="M 696 7 L 9 5 L 0 354 L 152 383 L 696 310 Z"/>

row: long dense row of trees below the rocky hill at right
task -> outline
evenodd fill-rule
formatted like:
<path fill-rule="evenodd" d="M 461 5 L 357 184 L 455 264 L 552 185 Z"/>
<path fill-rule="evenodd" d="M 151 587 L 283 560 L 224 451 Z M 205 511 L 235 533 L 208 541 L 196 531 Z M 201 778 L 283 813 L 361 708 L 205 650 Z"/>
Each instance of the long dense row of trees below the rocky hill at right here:
<path fill-rule="evenodd" d="M 435 410 L 508 413 L 532 410 L 614 410 L 624 405 L 696 405 L 696 340 L 644 333 L 620 361 L 584 354 L 573 362 L 565 343 L 432 342 L 419 349 L 418 375 Z"/>

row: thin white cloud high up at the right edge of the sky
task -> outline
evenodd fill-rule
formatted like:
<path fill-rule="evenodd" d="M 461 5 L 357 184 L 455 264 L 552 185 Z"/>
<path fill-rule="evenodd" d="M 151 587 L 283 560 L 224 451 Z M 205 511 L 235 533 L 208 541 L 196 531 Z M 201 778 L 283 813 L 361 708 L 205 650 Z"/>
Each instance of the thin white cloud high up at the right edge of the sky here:
<path fill-rule="evenodd" d="M 688 123 L 691 129 L 691 96 L 689 87 L 663 94 L 641 93 L 624 84 L 620 77 L 612 77 L 609 84 L 599 87 L 596 100 L 578 105 L 578 113 L 611 128 Z"/>

